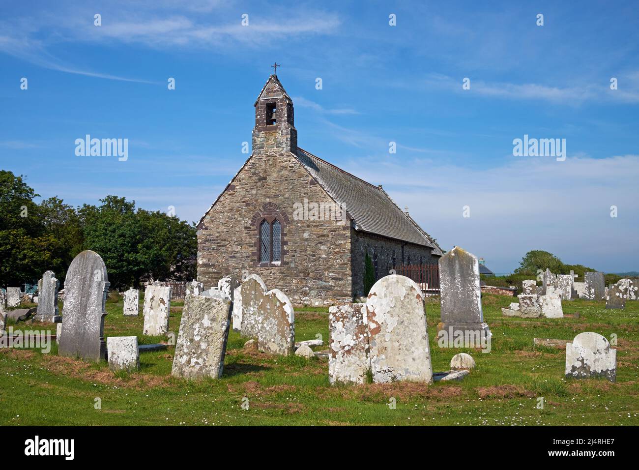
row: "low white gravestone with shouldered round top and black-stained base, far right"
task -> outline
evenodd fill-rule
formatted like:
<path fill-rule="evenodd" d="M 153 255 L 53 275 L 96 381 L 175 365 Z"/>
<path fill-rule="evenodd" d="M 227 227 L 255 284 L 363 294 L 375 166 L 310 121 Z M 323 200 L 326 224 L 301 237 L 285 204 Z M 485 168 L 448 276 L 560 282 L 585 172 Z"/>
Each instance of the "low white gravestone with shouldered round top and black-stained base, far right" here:
<path fill-rule="evenodd" d="M 601 334 L 587 331 L 566 344 L 566 377 L 588 379 L 604 377 L 614 382 L 617 377 L 617 351 Z"/>

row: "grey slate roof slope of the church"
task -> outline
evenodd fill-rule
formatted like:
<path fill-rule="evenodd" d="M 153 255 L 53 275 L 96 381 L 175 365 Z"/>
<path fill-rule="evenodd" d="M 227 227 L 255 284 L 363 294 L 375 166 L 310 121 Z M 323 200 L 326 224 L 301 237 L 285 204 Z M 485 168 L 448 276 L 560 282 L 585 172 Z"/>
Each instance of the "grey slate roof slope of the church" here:
<path fill-rule="evenodd" d="M 433 248 L 440 247 L 397 206 L 380 186 L 374 186 L 298 147 L 298 161 L 355 221 L 355 229 Z"/>

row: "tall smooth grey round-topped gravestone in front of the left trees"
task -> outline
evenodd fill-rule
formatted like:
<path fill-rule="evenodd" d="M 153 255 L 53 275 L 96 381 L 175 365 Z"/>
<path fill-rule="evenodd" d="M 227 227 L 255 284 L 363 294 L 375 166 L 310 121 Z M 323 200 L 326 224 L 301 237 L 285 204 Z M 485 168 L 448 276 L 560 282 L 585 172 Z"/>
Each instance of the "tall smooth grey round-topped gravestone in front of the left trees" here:
<path fill-rule="evenodd" d="M 96 362 L 106 359 L 104 307 L 109 285 L 107 267 L 95 251 L 82 251 L 73 258 L 66 271 L 62 309 L 65 334 L 59 342 L 60 356 Z"/>

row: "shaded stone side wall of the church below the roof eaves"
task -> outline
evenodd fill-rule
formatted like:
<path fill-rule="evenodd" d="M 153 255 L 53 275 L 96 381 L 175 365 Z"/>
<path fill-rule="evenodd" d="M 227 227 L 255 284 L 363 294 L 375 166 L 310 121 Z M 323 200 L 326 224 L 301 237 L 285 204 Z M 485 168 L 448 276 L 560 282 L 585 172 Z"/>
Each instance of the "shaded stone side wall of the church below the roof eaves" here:
<path fill-rule="evenodd" d="M 389 270 L 402 264 L 437 264 L 440 256 L 432 255 L 432 248 L 389 239 L 373 233 L 351 229 L 351 270 L 353 297 L 368 295 L 364 292 L 364 260 L 371 256 L 375 281 L 387 276 Z"/>

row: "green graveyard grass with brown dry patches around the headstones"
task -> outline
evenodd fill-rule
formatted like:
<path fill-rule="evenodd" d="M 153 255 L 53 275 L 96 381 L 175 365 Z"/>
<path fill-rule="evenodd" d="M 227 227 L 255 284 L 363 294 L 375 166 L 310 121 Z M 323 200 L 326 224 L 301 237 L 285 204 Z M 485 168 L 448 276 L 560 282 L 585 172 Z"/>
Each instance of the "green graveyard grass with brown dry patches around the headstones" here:
<path fill-rule="evenodd" d="M 246 339 L 235 332 L 224 377 L 199 382 L 170 376 L 173 347 L 141 354 L 141 368 L 132 374 L 113 373 L 104 362 L 59 357 L 56 344 L 49 354 L 4 348 L 0 425 L 639 425 L 639 302 L 606 310 L 603 301 L 577 300 L 563 302 L 563 319 L 502 317 L 500 307 L 513 300 L 484 294 L 484 318 L 493 332 L 488 354 L 440 349 L 439 302 L 427 301 L 433 371 L 448 370 L 458 352 L 477 363 L 463 381 L 431 386 L 330 386 L 327 360 L 245 353 Z M 121 302 L 107 303 L 105 336 L 167 341 L 142 336 L 142 317 L 123 317 L 122 308 Z M 173 308 L 169 331 L 176 336 L 180 317 L 180 308 Z M 8 326 L 55 333 L 50 325 Z M 582 331 L 617 335 L 616 383 L 566 379 L 566 352 L 532 343 L 535 337 L 572 340 Z M 296 309 L 295 333 L 297 341 L 319 333 L 328 343 L 328 309 Z M 543 409 L 537 409 L 537 397 L 544 398 Z"/>

